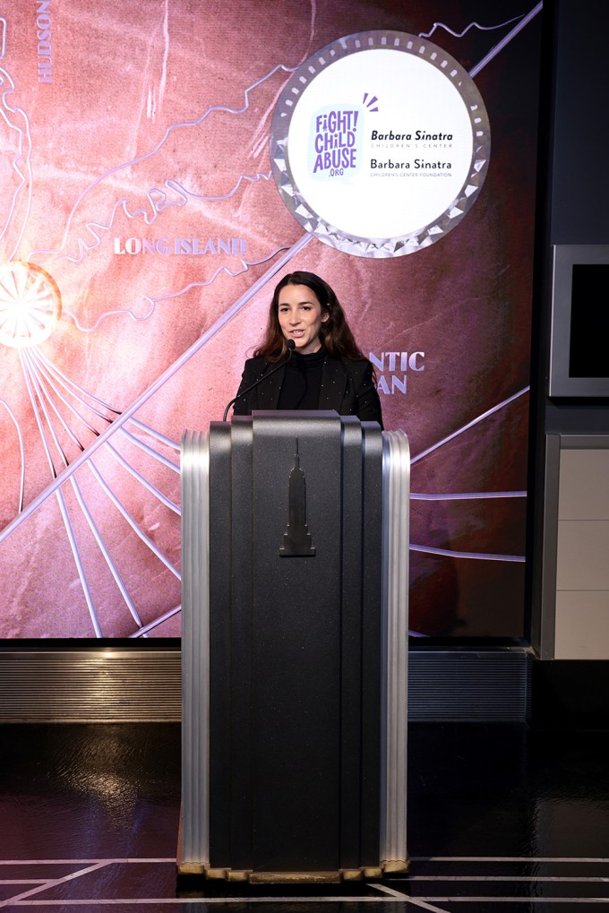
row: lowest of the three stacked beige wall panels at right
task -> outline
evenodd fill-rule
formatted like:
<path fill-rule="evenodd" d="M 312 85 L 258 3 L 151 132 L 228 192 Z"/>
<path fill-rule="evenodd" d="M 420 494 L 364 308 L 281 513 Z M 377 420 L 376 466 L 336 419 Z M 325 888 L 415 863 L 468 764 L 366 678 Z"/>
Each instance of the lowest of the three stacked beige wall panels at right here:
<path fill-rule="evenodd" d="M 556 659 L 609 659 L 609 592 L 556 594 Z"/>

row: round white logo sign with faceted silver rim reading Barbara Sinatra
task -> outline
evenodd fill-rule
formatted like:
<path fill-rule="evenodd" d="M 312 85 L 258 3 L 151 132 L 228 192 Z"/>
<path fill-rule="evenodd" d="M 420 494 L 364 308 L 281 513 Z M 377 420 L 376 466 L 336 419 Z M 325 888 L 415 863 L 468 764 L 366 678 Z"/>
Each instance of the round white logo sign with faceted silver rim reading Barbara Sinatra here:
<path fill-rule="evenodd" d="M 404 32 L 361 32 L 290 77 L 270 157 L 289 211 L 357 257 L 401 257 L 458 225 L 490 153 L 484 102 L 442 48 Z"/>

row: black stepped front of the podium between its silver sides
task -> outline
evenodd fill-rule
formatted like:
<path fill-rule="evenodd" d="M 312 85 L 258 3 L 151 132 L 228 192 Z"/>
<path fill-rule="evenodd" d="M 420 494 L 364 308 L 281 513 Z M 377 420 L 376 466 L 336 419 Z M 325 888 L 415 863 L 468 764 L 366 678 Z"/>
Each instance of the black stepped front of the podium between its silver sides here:
<path fill-rule="evenodd" d="M 379 865 L 383 439 L 335 413 L 209 433 L 209 868 Z"/>

